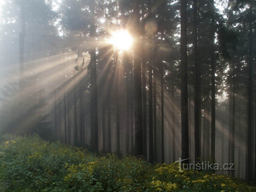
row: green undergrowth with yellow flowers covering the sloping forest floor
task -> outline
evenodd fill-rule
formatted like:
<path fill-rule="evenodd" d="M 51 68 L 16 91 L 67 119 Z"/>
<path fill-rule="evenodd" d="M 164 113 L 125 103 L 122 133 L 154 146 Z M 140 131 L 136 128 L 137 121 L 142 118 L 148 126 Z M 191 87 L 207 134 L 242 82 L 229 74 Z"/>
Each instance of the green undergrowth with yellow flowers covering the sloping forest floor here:
<path fill-rule="evenodd" d="M 134 156 L 95 155 L 38 135 L 4 135 L 0 143 L 0 191 L 256 191 L 211 172 L 179 172 L 178 163 L 151 165 Z"/>

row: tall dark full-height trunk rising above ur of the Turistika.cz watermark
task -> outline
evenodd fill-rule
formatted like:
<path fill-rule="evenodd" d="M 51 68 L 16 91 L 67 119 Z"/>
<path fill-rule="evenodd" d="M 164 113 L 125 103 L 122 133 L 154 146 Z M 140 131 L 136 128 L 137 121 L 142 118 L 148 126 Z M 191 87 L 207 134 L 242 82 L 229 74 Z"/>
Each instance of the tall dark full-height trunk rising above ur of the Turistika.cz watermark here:
<path fill-rule="evenodd" d="M 198 62 L 197 0 L 193 0 L 195 162 L 201 156 L 201 64 Z"/>

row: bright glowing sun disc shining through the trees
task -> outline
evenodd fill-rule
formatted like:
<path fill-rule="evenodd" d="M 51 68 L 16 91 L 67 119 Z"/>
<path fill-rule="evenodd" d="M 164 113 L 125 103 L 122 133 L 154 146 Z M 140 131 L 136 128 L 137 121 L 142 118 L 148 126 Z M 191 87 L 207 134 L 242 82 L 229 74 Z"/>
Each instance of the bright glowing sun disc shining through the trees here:
<path fill-rule="evenodd" d="M 112 33 L 109 42 L 119 50 L 129 50 L 133 45 L 133 38 L 127 30 L 118 30 Z"/>

